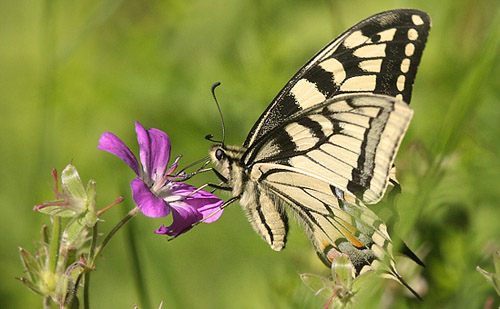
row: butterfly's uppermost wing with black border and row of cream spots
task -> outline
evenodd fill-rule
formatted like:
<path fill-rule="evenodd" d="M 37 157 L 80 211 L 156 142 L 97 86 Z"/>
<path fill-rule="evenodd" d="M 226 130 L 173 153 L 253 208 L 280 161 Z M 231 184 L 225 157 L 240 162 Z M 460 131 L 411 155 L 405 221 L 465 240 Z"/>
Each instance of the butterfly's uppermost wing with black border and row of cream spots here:
<path fill-rule="evenodd" d="M 430 18 L 418 10 L 393 10 L 361 21 L 306 63 L 274 98 L 244 146 L 300 111 L 336 95 L 369 92 L 410 103 Z"/>

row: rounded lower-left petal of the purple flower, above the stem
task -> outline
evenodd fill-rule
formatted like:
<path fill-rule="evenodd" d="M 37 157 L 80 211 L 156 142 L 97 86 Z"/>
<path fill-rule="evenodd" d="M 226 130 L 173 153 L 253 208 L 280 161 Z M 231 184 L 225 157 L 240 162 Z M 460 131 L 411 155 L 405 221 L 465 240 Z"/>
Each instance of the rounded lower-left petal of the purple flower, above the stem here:
<path fill-rule="evenodd" d="M 170 213 L 167 202 L 151 192 L 148 185 L 139 177 L 132 180 L 132 197 L 139 209 L 148 217 L 165 217 Z"/>

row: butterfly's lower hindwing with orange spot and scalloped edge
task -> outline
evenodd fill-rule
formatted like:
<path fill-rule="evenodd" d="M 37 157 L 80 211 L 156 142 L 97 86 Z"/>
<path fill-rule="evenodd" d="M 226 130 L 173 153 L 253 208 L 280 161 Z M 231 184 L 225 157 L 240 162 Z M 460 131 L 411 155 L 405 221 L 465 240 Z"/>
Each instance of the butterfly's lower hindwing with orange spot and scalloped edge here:
<path fill-rule="evenodd" d="M 261 185 L 284 201 L 325 264 L 331 249 L 348 254 L 357 273 L 376 258 L 390 257 L 384 223 L 362 203 L 347 202 L 327 182 L 273 167 Z"/>

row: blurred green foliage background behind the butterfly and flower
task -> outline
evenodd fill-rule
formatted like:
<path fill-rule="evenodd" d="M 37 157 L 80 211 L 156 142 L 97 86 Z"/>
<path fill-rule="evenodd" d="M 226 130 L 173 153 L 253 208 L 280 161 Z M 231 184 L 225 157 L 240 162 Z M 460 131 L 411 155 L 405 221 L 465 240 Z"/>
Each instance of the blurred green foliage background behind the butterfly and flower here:
<path fill-rule="evenodd" d="M 53 199 L 51 168 L 72 162 L 97 181 L 98 205 L 124 194 L 134 175 L 96 149 L 111 131 L 137 152 L 134 121 L 166 131 L 186 165 L 207 154 L 203 137 L 239 145 L 286 81 L 354 23 L 412 7 L 433 21 L 417 75 L 413 122 L 397 158 L 403 193 L 393 229 L 427 267 L 410 271 L 423 303 L 380 281 L 373 307 L 498 306 L 475 270 L 493 270 L 500 248 L 500 2 L 447 1 L 1 1 L 0 305 L 37 308 L 17 246 L 33 251 L 48 217 L 32 211 Z M 200 176 L 200 185 L 214 178 Z M 227 198 L 228 196 L 225 196 Z M 103 215 L 109 230 L 130 204 Z M 382 216 L 384 214 L 381 214 Z M 327 273 L 297 226 L 273 252 L 238 206 L 211 225 L 166 242 L 153 230 L 168 219 L 132 221 L 150 305 L 163 308 L 318 308 L 297 272 Z M 92 275 L 94 308 L 140 303 L 121 230 Z M 420 274 L 419 274 L 420 273 Z M 411 281 L 411 280 L 410 280 Z M 426 287 L 426 288 L 425 288 Z M 380 303 L 380 295 L 392 293 Z M 392 291 L 392 292 L 391 292 Z M 389 299 L 389 301 L 388 301 Z"/>

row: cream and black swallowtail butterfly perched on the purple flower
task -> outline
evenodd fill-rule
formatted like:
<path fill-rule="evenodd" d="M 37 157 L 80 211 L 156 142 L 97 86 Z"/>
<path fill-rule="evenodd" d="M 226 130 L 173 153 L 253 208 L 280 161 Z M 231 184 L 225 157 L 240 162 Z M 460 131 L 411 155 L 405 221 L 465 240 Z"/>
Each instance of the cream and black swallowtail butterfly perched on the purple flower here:
<path fill-rule="evenodd" d="M 430 26 L 413 9 L 362 20 L 292 77 L 243 146 L 211 147 L 230 201 L 273 250 L 285 248 L 292 213 L 325 264 L 347 254 L 361 274 L 388 260 L 387 273 L 410 288 L 395 269 L 386 225 L 367 205 L 397 184 L 394 158 Z"/>

